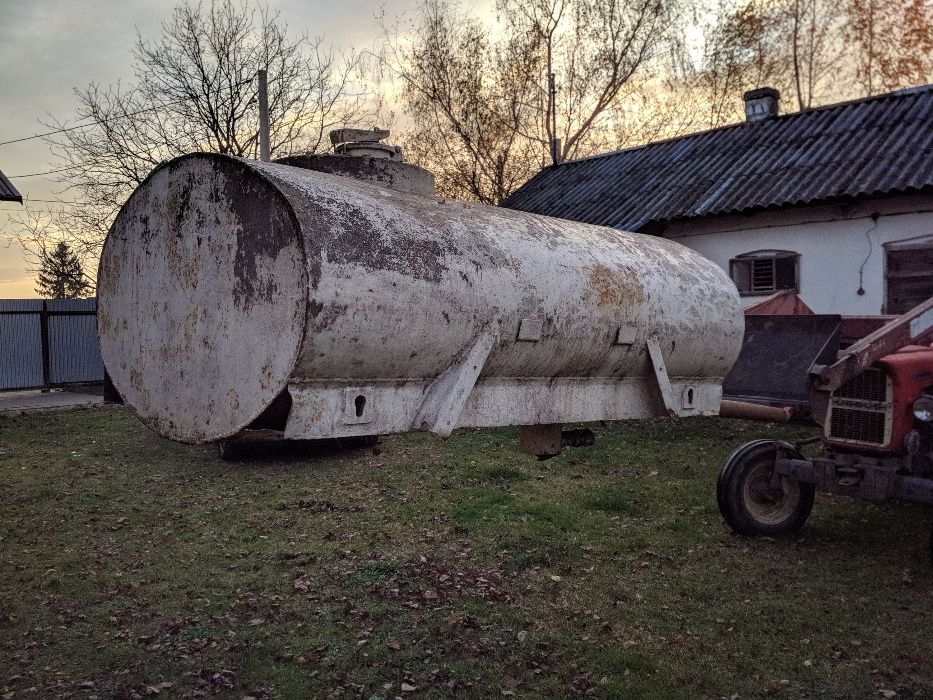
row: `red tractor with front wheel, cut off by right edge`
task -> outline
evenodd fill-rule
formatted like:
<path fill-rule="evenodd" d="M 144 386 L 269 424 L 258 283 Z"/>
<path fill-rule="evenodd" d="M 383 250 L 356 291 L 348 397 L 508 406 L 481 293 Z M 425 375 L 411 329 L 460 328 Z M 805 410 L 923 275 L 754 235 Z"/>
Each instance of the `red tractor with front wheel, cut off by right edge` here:
<path fill-rule="evenodd" d="M 817 490 L 933 505 L 933 298 L 810 367 L 810 406 L 822 435 L 796 444 L 755 440 L 719 473 L 716 496 L 742 535 L 799 530 Z M 926 343 L 926 344 L 924 344 Z M 819 456 L 800 449 L 819 442 Z M 933 534 L 930 540 L 933 553 Z"/>

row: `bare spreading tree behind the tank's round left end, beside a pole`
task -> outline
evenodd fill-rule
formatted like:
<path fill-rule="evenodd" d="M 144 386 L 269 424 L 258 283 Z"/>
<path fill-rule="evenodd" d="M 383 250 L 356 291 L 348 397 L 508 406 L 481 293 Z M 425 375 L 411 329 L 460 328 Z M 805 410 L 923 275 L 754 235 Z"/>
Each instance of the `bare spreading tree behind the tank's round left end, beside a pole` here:
<path fill-rule="evenodd" d="M 69 122 L 88 128 L 49 137 L 60 183 L 77 203 L 57 221 L 72 247 L 93 260 L 119 207 L 160 162 L 192 151 L 256 157 L 256 74 L 269 76 L 271 152 L 314 152 L 328 130 L 356 124 L 364 100 L 350 94 L 353 56 L 335 56 L 321 39 L 290 36 L 279 13 L 246 0 L 177 6 L 161 36 L 137 37 L 133 79 L 76 90 Z M 36 244 L 28 221 L 19 242 Z M 47 232 L 48 233 L 48 232 Z"/>

